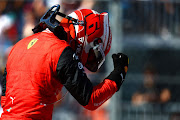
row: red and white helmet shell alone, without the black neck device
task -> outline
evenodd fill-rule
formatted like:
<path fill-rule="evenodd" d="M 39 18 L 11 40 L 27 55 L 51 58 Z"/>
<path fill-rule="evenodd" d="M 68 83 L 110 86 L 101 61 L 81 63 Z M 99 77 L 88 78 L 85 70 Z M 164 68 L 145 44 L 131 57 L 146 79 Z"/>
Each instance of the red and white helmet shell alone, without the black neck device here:
<path fill-rule="evenodd" d="M 99 14 L 94 10 L 81 9 L 68 16 L 83 21 L 83 24 L 74 24 L 77 42 L 74 49 L 87 69 L 97 71 L 111 48 L 112 35 L 108 13 Z"/>

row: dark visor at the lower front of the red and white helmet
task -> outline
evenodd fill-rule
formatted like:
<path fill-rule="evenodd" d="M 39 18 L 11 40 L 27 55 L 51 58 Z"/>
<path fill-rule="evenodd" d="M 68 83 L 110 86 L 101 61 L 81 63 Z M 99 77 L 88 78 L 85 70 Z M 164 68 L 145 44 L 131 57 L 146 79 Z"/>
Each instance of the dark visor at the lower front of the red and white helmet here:
<path fill-rule="evenodd" d="M 96 72 L 105 61 L 105 54 L 101 45 L 90 49 L 85 67 L 91 72 Z"/>

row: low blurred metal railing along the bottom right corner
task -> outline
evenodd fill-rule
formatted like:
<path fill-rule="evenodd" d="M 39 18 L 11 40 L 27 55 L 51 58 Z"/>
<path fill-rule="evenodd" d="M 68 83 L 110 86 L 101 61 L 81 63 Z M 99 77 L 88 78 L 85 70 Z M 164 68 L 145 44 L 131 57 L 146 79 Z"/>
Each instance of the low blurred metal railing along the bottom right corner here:
<path fill-rule="evenodd" d="M 179 120 L 180 109 L 173 110 L 179 107 L 179 104 L 167 104 L 164 107 L 166 111 L 160 110 L 159 104 L 145 104 L 142 106 L 133 106 L 131 103 L 123 103 L 123 115 L 121 120 Z M 175 112 L 174 112 L 175 111 Z M 174 118 L 173 118 L 174 117 Z"/>

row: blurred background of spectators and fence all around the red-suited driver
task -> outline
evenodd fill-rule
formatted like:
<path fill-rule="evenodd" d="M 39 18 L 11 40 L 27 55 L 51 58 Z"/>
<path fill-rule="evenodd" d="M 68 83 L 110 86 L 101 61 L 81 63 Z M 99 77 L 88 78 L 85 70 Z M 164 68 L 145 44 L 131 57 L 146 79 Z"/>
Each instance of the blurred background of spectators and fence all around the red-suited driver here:
<path fill-rule="evenodd" d="M 12 46 L 54 4 L 66 14 L 109 13 L 112 48 L 98 73 L 87 71 L 94 85 L 113 70 L 112 53 L 127 54 L 130 64 L 120 91 L 94 112 L 64 89 L 53 120 L 180 120 L 180 0 L 0 0 L 0 78 Z"/>

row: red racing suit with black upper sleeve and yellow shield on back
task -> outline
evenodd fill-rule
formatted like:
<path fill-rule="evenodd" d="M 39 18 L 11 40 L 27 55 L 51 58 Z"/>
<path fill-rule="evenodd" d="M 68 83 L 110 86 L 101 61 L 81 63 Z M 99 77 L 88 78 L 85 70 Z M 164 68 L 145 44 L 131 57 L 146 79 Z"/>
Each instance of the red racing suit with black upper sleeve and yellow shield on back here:
<path fill-rule="evenodd" d="M 1 119 L 51 120 L 51 103 L 63 86 L 89 110 L 118 90 L 117 82 L 110 79 L 93 86 L 69 44 L 52 32 L 20 40 L 9 54 L 3 75 Z"/>

